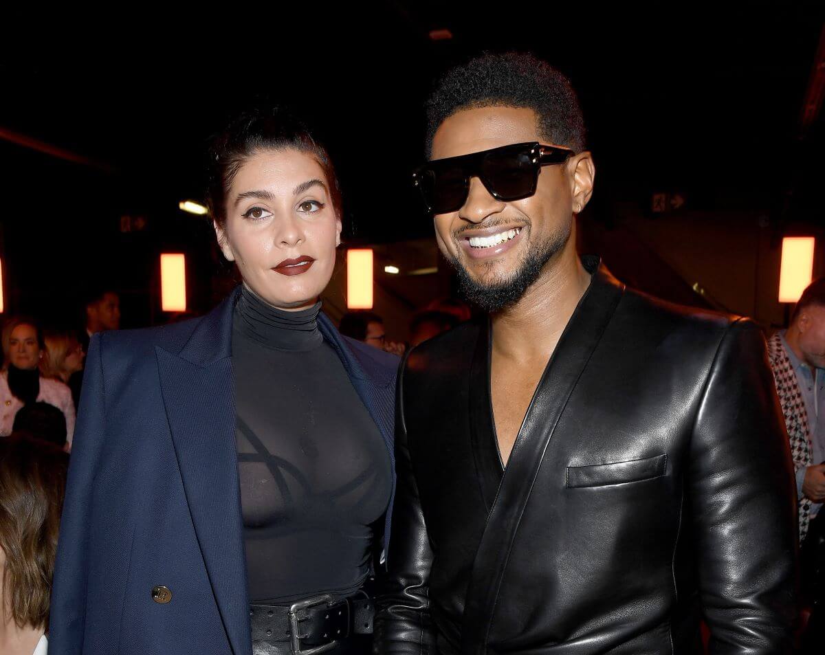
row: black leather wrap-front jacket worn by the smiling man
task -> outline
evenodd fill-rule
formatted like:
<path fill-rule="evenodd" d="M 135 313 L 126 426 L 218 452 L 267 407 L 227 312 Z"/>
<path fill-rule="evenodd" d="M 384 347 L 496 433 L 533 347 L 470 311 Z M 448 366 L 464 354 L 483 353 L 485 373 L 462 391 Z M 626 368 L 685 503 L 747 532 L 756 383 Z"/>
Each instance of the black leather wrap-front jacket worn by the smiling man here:
<path fill-rule="evenodd" d="M 795 486 L 759 328 L 592 284 L 506 471 L 489 334 L 405 360 L 377 653 L 785 653 Z M 597 270 L 596 270 L 597 268 Z"/>

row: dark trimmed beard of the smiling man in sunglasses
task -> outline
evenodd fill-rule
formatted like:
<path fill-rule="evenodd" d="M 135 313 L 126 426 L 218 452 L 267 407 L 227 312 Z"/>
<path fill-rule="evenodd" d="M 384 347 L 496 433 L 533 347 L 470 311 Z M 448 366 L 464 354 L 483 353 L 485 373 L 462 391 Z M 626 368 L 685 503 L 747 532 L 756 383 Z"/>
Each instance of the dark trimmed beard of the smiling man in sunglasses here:
<path fill-rule="evenodd" d="M 527 227 L 532 233 L 532 225 Z M 516 270 L 511 274 L 500 274 L 493 280 L 476 280 L 456 257 L 447 257 L 447 261 L 455 269 L 458 277 L 459 293 L 470 304 L 474 304 L 479 309 L 487 313 L 500 312 L 516 304 L 526 290 L 539 279 L 544 265 L 551 257 L 561 252 L 568 243 L 573 229 L 573 215 L 559 229 L 549 234 L 541 243 L 536 243 L 530 247 L 528 252 L 521 257 Z"/>

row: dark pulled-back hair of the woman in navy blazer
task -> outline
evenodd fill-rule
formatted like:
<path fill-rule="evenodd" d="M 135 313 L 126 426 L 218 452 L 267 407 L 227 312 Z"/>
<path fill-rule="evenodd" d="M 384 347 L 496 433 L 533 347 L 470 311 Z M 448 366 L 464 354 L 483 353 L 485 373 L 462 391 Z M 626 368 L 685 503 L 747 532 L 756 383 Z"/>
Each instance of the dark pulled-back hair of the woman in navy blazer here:
<path fill-rule="evenodd" d="M 341 189 L 326 148 L 304 123 L 280 107 L 243 111 L 215 134 L 209 148 L 210 216 L 219 227 L 226 224 L 226 200 L 238 171 L 253 154 L 294 148 L 312 155 L 323 169 L 335 213 L 341 218 Z"/>

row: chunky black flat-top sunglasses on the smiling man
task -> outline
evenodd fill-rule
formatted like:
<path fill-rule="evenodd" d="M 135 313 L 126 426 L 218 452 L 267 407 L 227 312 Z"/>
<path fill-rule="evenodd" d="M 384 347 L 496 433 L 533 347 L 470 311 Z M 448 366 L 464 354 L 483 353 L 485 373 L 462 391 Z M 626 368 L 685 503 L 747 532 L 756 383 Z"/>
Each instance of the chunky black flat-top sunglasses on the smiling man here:
<path fill-rule="evenodd" d="M 467 201 L 469 181 L 478 177 L 496 200 L 521 200 L 535 193 L 542 166 L 563 163 L 573 150 L 536 141 L 504 145 L 460 157 L 433 159 L 413 172 L 431 214 L 459 210 Z"/>

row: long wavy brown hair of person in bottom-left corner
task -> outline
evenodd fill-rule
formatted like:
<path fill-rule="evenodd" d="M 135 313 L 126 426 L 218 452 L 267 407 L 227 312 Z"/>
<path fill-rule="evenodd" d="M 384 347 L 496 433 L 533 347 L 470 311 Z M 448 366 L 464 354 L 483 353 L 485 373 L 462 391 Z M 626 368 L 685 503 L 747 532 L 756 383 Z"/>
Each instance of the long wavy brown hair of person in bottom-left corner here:
<path fill-rule="evenodd" d="M 68 455 L 54 445 L 14 433 L 0 439 L 0 593 L 20 628 L 49 624 L 67 468 Z"/>

